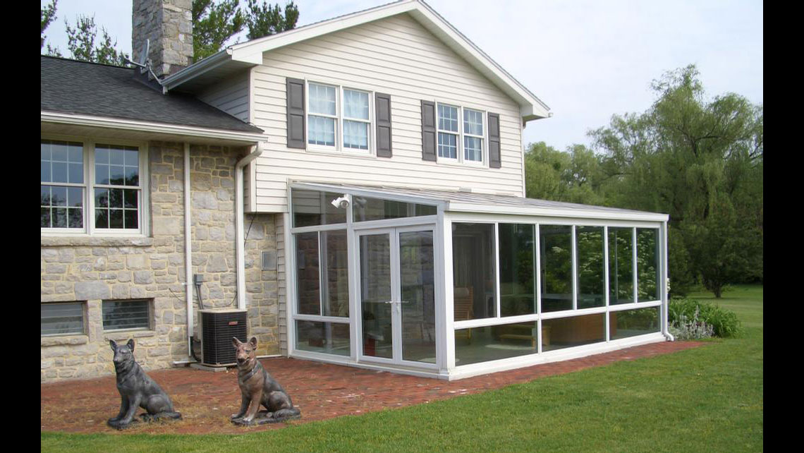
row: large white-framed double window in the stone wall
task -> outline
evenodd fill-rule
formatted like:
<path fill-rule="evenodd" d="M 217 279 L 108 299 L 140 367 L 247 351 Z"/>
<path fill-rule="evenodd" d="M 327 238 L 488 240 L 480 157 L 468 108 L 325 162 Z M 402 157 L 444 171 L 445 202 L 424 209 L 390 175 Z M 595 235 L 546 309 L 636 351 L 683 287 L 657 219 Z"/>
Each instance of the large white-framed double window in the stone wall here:
<path fill-rule="evenodd" d="M 41 232 L 146 235 L 146 157 L 133 143 L 42 138 Z"/>

